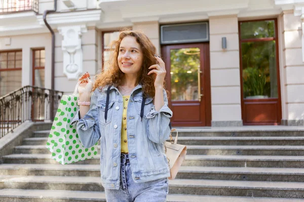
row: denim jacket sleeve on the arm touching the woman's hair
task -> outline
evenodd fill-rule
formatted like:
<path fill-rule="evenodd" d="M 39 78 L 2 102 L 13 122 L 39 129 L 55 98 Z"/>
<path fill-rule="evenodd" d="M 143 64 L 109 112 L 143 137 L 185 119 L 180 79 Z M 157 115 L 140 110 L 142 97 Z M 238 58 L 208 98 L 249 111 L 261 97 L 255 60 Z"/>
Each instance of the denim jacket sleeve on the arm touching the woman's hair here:
<path fill-rule="evenodd" d="M 172 111 L 168 107 L 168 97 L 166 90 L 163 89 L 164 106 L 160 111 L 155 110 L 155 106 L 151 108 L 146 115 L 147 122 L 147 134 L 148 138 L 155 143 L 163 143 L 170 136 L 170 118 L 172 117 Z"/>

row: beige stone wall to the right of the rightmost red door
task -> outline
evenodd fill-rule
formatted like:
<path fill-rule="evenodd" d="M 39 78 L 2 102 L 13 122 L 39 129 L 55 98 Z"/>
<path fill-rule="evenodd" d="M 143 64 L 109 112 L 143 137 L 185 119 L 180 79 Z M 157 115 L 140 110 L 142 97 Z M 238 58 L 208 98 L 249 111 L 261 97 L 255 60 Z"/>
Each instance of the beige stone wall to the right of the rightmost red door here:
<path fill-rule="evenodd" d="M 279 16 L 282 124 L 304 125 L 302 20 L 293 11 Z"/>

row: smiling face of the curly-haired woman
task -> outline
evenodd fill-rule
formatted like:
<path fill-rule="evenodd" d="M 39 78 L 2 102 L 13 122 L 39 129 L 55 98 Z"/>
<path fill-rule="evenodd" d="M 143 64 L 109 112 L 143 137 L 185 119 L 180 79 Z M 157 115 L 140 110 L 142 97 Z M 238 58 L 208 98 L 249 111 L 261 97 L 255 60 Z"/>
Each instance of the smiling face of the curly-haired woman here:
<path fill-rule="evenodd" d="M 143 54 L 135 37 L 125 36 L 122 39 L 117 61 L 123 73 L 138 76 L 142 67 Z"/>

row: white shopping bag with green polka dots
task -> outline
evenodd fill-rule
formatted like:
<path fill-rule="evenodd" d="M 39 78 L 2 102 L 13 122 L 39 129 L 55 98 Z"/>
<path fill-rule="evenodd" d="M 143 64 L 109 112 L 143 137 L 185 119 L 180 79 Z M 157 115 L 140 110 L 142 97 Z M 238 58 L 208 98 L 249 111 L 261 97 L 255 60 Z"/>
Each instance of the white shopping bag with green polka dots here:
<path fill-rule="evenodd" d="M 62 165 L 97 157 L 98 142 L 90 148 L 85 148 L 77 134 L 76 124 L 71 125 L 79 109 L 77 89 L 80 82 L 72 95 L 62 96 L 46 144 L 51 151 L 51 159 Z"/>

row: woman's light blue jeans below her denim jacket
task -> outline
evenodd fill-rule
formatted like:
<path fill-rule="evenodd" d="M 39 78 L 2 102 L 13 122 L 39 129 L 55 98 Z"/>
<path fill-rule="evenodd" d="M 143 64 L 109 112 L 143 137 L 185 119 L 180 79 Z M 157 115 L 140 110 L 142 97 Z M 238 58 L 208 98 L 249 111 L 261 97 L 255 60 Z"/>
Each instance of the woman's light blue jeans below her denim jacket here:
<path fill-rule="evenodd" d="M 128 154 L 121 154 L 119 189 L 105 189 L 107 202 L 162 202 L 169 192 L 168 178 L 135 183 Z"/>

